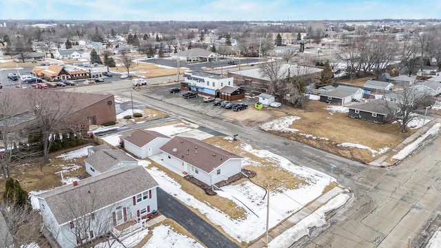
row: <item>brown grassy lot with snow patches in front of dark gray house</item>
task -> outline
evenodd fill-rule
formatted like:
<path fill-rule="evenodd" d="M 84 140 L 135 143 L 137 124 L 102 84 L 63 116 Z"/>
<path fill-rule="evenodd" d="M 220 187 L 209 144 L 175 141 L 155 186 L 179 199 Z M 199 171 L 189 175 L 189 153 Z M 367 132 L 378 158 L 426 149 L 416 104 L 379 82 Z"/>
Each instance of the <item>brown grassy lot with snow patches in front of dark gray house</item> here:
<path fill-rule="evenodd" d="M 326 106 L 327 103 L 319 101 L 309 101 L 307 110 L 284 105 L 278 108 L 265 107 L 263 110 L 256 110 L 251 106 L 241 112 L 225 112 L 224 116 L 229 120 L 236 120 L 252 126 L 259 126 L 281 116 L 298 116 L 300 120 L 294 121 L 289 126 L 299 130 L 298 132 L 269 132 L 365 163 L 373 161 L 379 155 L 372 156 L 368 149 L 338 147 L 337 145 L 355 143 L 375 150 L 384 147 L 392 148 L 415 132 L 415 130 L 409 130 L 403 134 L 398 131 L 398 124 L 371 123 L 349 118 L 344 113 L 331 113 L 325 109 Z M 301 134 L 312 134 L 319 138 L 311 138 Z M 320 138 L 329 138 L 329 141 Z"/>

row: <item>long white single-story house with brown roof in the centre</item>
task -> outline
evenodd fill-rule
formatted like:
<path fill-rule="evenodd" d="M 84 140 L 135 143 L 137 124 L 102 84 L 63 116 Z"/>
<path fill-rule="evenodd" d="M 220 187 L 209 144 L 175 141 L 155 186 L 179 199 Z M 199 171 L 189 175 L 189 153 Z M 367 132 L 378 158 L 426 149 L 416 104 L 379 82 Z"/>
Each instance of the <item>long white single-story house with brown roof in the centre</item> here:
<path fill-rule="evenodd" d="M 165 167 L 189 174 L 207 185 L 227 180 L 242 170 L 243 157 L 196 138 L 175 136 L 160 150 Z"/>

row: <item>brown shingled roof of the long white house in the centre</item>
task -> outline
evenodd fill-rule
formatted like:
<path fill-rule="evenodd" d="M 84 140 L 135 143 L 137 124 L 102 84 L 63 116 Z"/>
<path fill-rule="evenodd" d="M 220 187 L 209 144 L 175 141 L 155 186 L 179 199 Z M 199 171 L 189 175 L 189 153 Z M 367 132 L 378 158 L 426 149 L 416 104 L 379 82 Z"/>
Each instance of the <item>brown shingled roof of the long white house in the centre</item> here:
<path fill-rule="evenodd" d="M 174 148 L 176 148 L 176 152 L 173 152 Z M 196 138 L 181 136 L 174 136 L 174 138 L 159 149 L 207 173 L 212 172 L 229 159 L 242 158 L 209 143 L 199 141 Z"/>

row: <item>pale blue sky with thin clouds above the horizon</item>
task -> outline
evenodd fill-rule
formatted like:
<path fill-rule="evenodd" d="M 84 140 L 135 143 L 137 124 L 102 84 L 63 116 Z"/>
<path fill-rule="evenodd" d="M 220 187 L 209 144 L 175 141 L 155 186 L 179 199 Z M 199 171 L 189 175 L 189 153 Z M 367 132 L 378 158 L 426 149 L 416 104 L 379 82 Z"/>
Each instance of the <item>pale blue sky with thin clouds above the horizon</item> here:
<path fill-rule="evenodd" d="M 1 19 L 300 21 L 439 19 L 439 0 L 1 0 Z"/>

